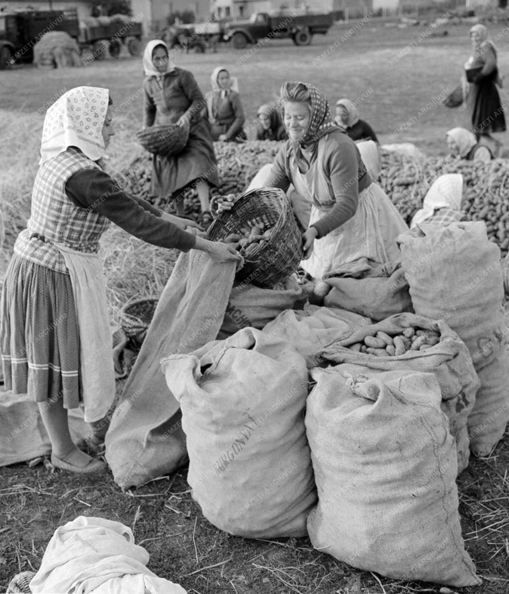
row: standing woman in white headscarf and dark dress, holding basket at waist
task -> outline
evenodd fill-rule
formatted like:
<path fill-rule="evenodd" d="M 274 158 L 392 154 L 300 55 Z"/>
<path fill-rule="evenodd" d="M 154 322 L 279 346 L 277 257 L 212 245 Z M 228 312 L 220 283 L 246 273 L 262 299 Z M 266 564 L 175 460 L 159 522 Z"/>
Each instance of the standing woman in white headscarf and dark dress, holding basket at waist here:
<path fill-rule="evenodd" d="M 147 43 L 143 55 L 145 80 L 144 128 L 152 125 L 189 126 L 184 150 L 166 157 L 155 154 L 152 162 L 152 194 L 176 201 L 177 214 L 184 213 L 183 191 L 195 187 L 201 204 L 201 219 L 211 221 L 209 194 L 219 185 L 217 163 L 206 113 L 206 102 L 195 77 L 177 68 L 169 59 L 168 48 L 159 39 Z"/>

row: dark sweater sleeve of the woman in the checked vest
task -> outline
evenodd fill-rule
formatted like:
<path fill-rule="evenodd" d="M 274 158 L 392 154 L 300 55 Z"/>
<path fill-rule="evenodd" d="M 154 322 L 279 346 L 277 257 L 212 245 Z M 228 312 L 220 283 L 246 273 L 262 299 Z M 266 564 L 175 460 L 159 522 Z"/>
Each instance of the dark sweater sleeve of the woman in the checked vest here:
<path fill-rule="evenodd" d="M 88 208 L 148 244 L 177 248 L 183 252 L 195 247 L 196 237 L 161 218 L 161 211 L 141 198 L 126 194 L 100 169 L 74 173 L 65 192 L 73 204 Z"/>

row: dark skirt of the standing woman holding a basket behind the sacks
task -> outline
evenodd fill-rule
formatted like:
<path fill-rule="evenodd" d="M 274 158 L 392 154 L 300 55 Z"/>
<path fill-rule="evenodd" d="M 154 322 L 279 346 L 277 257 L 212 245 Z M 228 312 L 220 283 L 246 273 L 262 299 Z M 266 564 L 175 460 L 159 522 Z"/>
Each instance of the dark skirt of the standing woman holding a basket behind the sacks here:
<path fill-rule="evenodd" d="M 206 119 L 201 119 L 192 126 L 187 146 L 182 153 L 173 157 L 154 155 L 152 195 L 174 195 L 198 179 L 205 179 L 214 187 L 219 185 L 210 124 Z"/>

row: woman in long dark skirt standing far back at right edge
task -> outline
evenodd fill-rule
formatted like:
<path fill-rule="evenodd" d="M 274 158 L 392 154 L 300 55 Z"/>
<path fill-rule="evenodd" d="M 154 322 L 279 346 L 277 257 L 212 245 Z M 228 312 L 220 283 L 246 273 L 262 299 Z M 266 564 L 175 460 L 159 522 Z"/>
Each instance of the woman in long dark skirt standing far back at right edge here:
<path fill-rule="evenodd" d="M 497 68 L 497 50 L 488 41 L 488 29 L 477 24 L 470 29 L 472 56 L 465 64 L 467 81 L 466 107 L 472 121 L 472 131 L 479 140 L 491 138 L 490 132 L 505 131 L 504 108 L 500 103 L 497 84 L 501 86 Z M 495 139 L 492 139 L 495 140 Z"/>

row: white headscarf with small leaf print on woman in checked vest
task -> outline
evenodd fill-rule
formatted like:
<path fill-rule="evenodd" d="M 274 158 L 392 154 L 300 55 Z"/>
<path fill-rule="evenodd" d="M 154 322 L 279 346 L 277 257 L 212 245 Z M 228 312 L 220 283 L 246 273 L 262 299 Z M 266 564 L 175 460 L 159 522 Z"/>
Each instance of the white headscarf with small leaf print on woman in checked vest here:
<path fill-rule="evenodd" d="M 109 90 L 100 87 L 75 87 L 59 97 L 44 117 L 39 165 L 70 146 L 78 147 L 88 159 L 100 159 L 108 101 Z"/>

